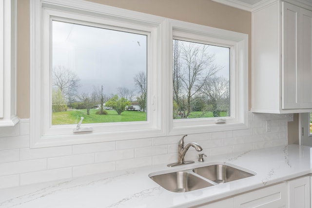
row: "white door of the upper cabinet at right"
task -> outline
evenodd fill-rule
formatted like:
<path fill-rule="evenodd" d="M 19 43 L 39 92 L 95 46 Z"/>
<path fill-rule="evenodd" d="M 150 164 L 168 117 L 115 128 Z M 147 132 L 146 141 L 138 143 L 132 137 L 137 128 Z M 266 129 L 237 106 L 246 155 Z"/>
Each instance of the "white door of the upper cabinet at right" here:
<path fill-rule="evenodd" d="M 312 12 L 282 2 L 282 108 L 312 108 Z"/>

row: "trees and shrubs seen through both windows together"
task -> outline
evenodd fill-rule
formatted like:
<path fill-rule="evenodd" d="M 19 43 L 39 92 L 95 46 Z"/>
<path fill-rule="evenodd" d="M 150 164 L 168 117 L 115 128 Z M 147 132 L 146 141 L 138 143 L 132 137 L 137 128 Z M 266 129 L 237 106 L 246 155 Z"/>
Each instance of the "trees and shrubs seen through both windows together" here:
<path fill-rule="evenodd" d="M 197 117 L 206 117 L 213 112 L 230 114 L 229 79 L 217 76 L 223 67 L 215 63 L 215 54 L 209 52 L 209 45 L 186 41 L 173 41 L 173 118 L 189 118 L 199 111 Z M 143 111 L 147 104 L 147 76 L 140 72 L 133 78 L 136 89 L 118 87 L 117 94 L 105 95 L 103 85 L 94 86 L 91 93 L 78 94 L 78 75 L 64 66 L 52 70 L 52 110 L 65 111 L 93 108 L 99 104 L 98 114 L 105 114 L 104 104 L 120 115 L 127 105 L 137 102 Z M 192 117 L 194 118 L 194 116 Z"/>

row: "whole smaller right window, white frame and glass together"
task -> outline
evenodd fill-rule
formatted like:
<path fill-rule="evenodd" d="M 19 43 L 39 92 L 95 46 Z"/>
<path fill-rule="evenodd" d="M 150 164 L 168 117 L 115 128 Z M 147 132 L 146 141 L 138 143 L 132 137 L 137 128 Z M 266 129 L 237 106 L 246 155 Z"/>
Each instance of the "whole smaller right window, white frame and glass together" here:
<path fill-rule="evenodd" d="M 247 128 L 247 35 L 175 20 L 171 25 L 170 134 Z"/>

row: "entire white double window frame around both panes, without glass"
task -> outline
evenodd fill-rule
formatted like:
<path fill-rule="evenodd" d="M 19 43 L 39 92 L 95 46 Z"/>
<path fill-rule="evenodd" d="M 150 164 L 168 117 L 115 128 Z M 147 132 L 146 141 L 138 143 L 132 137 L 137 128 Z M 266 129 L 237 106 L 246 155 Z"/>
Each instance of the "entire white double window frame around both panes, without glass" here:
<path fill-rule="evenodd" d="M 63 146 L 248 127 L 248 35 L 170 20 L 83 0 L 30 0 L 31 148 Z M 147 34 L 148 105 L 146 122 L 83 124 L 92 132 L 73 133 L 76 125 L 51 125 L 51 20 L 135 30 Z M 175 36 L 231 46 L 235 69 L 231 85 L 231 117 L 223 125 L 212 119 L 173 120 L 172 41 Z M 220 42 L 221 40 L 221 42 Z M 49 69 L 49 70 L 47 70 Z M 233 87 L 233 88 L 232 88 Z M 233 90 L 233 92 L 232 92 Z M 232 104 L 232 102 L 234 104 Z M 232 106 L 233 105 L 233 106 Z"/>

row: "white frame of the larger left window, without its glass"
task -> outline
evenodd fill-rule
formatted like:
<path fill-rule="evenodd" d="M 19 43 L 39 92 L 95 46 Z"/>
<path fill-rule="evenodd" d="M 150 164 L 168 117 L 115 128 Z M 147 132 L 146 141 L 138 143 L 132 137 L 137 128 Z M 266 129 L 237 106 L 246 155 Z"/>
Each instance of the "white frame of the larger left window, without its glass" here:
<path fill-rule="evenodd" d="M 163 18 L 81 0 L 31 0 L 31 147 L 117 141 L 164 135 L 161 113 L 160 26 Z M 90 12 L 92 11 L 92 12 Z M 84 124 L 92 132 L 74 133 L 76 125 L 52 125 L 52 20 L 80 23 L 148 36 L 147 121 Z M 152 79 L 153 77 L 153 79 Z M 154 79 L 157 78 L 157 79 Z M 157 99 L 156 99 L 157 98 Z"/>

